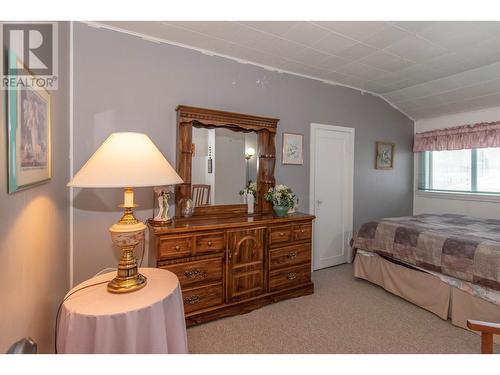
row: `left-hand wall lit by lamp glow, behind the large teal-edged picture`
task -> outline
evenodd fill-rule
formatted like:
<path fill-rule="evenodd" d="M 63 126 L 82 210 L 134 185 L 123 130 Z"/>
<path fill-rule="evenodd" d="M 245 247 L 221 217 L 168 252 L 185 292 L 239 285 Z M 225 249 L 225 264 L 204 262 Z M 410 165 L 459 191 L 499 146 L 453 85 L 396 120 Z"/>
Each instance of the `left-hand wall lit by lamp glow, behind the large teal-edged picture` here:
<path fill-rule="evenodd" d="M 59 89 L 52 99 L 52 180 L 7 193 L 5 91 L 0 90 L 0 353 L 32 337 L 54 349 L 57 308 L 69 277 L 69 23 L 59 22 Z"/>

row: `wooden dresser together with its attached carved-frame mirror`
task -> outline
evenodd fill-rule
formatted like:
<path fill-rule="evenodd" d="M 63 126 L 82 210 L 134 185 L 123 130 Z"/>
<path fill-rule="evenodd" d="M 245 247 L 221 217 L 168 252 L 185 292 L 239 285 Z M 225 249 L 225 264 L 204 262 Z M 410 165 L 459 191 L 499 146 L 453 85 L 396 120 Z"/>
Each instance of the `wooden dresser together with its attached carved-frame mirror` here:
<path fill-rule="evenodd" d="M 184 105 L 176 111 L 177 173 L 184 182 L 175 188 L 177 217 L 166 225 L 150 221 L 149 264 L 179 278 L 187 325 L 313 293 L 314 216 L 277 217 L 264 199 L 276 183 L 279 119 Z M 210 196 L 181 218 L 195 184 Z M 250 185 L 253 214 L 238 194 Z"/>

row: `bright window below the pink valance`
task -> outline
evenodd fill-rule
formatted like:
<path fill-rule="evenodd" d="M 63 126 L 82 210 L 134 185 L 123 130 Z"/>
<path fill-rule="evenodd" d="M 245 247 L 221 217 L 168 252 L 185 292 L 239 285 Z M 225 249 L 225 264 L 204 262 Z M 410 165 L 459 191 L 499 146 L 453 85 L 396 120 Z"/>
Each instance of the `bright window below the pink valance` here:
<path fill-rule="evenodd" d="M 419 189 L 500 194 L 500 148 L 421 152 Z"/>

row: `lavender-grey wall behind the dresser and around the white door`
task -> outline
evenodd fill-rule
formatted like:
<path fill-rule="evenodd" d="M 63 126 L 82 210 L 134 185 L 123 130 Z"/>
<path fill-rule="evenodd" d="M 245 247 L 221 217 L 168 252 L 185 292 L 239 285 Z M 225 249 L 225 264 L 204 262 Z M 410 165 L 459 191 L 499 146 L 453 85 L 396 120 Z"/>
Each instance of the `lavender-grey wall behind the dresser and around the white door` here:
<path fill-rule="evenodd" d="M 354 228 L 382 216 L 412 212 L 413 121 L 382 99 L 341 86 L 156 44 L 76 23 L 74 32 L 75 171 L 114 131 L 147 133 L 175 165 L 175 107 L 178 104 L 280 118 L 283 131 L 304 134 L 304 165 L 282 165 L 276 177 L 309 199 L 310 123 L 356 129 Z M 394 170 L 374 169 L 375 141 L 396 143 Z M 151 189 L 139 189 L 141 219 L 151 216 Z M 114 267 L 118 253 L 107 228 L 119 217 L 116 190 L 75 190 L 74 267 L 81 281 Z"/>

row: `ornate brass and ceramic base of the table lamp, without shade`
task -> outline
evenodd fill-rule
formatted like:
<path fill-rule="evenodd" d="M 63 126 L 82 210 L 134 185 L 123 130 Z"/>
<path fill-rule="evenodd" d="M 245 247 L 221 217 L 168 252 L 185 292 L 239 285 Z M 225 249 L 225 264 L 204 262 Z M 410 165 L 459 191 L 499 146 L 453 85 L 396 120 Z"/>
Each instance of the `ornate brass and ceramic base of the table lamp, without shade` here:
<path fill-rule="evenodd" d="M 137 272 L 134 248 L 144 241 L 146 226 L 135 219 L 131 208 L 126 207 L 122 219 L 109 228 L 109 231 L 113 244 L 121 248 L 122 257 L 116 277 L 108 284 L 108 292 L 129 293 L 145 287 L 147 279 Z"/>

